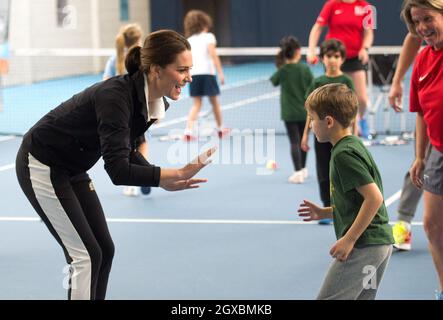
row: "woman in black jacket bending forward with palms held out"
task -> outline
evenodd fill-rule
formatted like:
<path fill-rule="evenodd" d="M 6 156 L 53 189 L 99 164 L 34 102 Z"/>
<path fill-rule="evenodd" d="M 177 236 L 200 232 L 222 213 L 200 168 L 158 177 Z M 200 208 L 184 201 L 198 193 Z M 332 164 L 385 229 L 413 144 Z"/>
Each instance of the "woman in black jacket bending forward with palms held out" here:
<path fill-rule="evenodd" d="M 116 185 L 176 191 L 199 187 L 193 178 L 214 149 L 180 169 L 151 165 L 136 140 L 164 116 L 191 82 L 191 47 L 172 30 L 151 33 L 126 58 L 128 74 L 95 84 L 49 112 L 24 136 L 18 181 L 70 265 L 69 299 L 104 299 L 114 244 L 87 174 L 102 156 Z"/>

